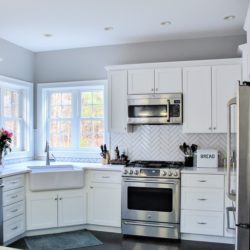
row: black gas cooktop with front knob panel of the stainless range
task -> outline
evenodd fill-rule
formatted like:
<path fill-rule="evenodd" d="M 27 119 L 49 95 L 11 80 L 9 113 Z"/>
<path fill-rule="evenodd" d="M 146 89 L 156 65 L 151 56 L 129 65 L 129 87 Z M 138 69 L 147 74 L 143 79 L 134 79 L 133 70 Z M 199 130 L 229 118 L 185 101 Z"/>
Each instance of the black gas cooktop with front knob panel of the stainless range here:
<path fill-rule="evenodd" d="M 180 178 L 184 166 L 180 161 L 132 161 L 123 171 L 123 177 Z"/>

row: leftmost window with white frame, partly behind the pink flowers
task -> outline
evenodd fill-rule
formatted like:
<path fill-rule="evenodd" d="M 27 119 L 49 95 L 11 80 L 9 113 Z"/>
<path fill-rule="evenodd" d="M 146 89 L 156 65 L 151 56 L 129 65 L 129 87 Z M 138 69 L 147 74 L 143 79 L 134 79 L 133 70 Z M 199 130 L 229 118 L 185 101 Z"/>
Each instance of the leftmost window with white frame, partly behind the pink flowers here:
<path fill-rule="evenodd" d="M 0 127 L 13 133 L 7 158 L 33 156 L 33 85 L 0 76 Z"/>

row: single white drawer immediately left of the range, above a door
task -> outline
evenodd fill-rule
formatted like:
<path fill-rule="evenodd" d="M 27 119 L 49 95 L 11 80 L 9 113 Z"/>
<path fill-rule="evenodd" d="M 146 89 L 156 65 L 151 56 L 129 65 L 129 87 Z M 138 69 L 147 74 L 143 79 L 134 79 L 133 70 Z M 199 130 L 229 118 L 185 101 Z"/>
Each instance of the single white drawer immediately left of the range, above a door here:
<path fill-rule="evenodd" d="M 121 183 L 121 172 L 93 171 L 91 173 L 92 182 Z"/>

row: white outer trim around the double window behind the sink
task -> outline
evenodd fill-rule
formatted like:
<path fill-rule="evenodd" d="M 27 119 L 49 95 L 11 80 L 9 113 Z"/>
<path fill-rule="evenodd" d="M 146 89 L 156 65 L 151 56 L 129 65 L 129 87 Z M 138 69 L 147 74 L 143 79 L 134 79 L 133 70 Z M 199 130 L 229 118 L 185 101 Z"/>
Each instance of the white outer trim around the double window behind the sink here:
<path fill-rule="evenodd" d="M 97 86 L 103 86 L 104 90 L 104 140 L 109 145 L 109 134 L 108 134 L 108 90 L 107 80 L 91 80 L 91 81 L 73 81 L 73 82 L 56 82 L 56 83 L 38 83 L 37 84 L 37 134 L 36 144 L 37 148 L 36 158 L 40 159 L 45 156 L 44 147 L 46 143 L 46 117 L 48 112 L 47 107 L 47 92 L 53 90 L 73 90 L 77 88 L 89 88 L 95 89 Z M 46 104 L 46 105 L 43 105 Z M 75 104 L 74 104 L 75 105 Z M 74 136 L 74 135 L 73 135 Z M 76 158 L 99 158 L 98 149 L 66 149 L 66 150 L 55 150 L 56 157 L 76 157 Z M 80 154 L 80 157 L 79 157 Z"/>

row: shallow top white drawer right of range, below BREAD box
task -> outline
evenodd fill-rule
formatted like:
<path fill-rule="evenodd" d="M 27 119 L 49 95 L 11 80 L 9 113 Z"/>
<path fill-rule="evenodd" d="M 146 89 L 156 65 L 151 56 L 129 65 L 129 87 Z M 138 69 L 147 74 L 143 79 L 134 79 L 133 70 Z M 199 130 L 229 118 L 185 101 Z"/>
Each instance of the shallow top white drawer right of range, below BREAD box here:
<path fill-rule="evenodd" d="M 185 187 L 224 188 L 224 175 L 182 174 L 181 185 Z"/>

